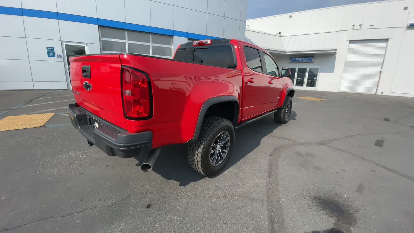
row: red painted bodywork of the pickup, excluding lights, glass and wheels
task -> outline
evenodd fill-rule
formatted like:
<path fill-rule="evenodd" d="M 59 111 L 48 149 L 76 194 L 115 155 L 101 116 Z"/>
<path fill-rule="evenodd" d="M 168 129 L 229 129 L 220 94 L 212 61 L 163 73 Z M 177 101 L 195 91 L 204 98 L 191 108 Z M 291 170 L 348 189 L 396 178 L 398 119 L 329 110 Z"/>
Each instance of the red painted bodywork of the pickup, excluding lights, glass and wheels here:
<path fill-rule="evenodd" d="M 153 148 L 185 143 L 193 138 L 201 106 L 213 97 L 238 98 L 239 124 L 282 106 L 287 91 L 283 87 L 292 87 L 290 79 L 251 70 L 241 48 L 243 45 L 260 48 L 238 40 L 231 40 L 231 44 L 237 57 L 235 69 L 138 54 L 69 58 L 72 88 L 80 94 L 75 94 L 75 100 L 81 107 L 129 132 L 152 131 Z M 83 65 L 91 66 L 91 78 L 82 77 Z M 153 99 L 151 119 L 125 119 L 121 99 L 121 65 L 143 70 L 149 75 Z M 255 82 L 248 83 L 249 78 L 254 78 Z M 92 90 L 84 89 L 84 81 L 92 84 Z"/>

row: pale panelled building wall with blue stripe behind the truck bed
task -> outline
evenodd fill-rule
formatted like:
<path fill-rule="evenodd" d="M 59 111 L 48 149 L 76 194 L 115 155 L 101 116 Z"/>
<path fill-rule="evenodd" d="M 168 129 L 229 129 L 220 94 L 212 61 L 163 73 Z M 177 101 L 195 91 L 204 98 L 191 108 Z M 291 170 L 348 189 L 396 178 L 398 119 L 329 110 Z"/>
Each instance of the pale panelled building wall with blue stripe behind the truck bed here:
<path fill-rule="evenodd" d="M 246 14 L 247 0 L 2 0 L 0 90 L 67 89 L 63 58 L 48 58 L 46 46 L 100 53 L 99 25 L 168 34 L 175 50 L 188 38 L 244 39 Z"/>

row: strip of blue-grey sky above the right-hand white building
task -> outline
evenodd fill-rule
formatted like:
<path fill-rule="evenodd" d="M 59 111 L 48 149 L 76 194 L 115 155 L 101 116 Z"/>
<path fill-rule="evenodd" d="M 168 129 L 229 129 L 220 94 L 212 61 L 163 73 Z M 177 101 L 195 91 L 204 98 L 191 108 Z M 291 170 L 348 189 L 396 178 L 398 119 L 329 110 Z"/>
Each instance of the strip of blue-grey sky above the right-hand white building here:
<path fill-rule="evenodd" d="M 247 19 L 379 0 L 247 0 Z"/>

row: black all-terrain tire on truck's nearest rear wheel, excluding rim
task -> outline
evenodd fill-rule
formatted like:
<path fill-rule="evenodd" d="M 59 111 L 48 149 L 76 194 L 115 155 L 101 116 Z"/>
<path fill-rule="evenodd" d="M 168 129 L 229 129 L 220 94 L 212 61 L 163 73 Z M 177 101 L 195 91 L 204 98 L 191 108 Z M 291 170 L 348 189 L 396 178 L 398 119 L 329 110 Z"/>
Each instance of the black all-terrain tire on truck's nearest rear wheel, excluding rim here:
<path fill-rule="evenodd" d="M 224 159 L 219 164 L 213 165 L 213 162 L 210 161 L 211 150 L 216 148 L 213 147 L 213 144 L 216 145 L 217 137 L 223 132 L 229 135 L 229 149 Z M 231 121 L 217 116 L 206 117 L 202 123 L 198 140 L 188 146 L 188 163 L 202 175 L 207 177 L 216 175 L 223 169 L 227 161 L 229 161 L 233 144 L 234 127 Z"/>

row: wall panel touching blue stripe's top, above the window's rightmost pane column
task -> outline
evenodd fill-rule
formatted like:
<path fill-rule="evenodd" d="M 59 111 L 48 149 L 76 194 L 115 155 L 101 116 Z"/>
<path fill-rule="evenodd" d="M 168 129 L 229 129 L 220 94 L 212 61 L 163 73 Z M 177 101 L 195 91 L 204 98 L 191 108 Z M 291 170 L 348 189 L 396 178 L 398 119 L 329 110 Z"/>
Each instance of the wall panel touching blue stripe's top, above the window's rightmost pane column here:
<path fill-rule="evenodd" d="M 151 26 L 173 29 L 173 5 L 150 1 Z"/>

